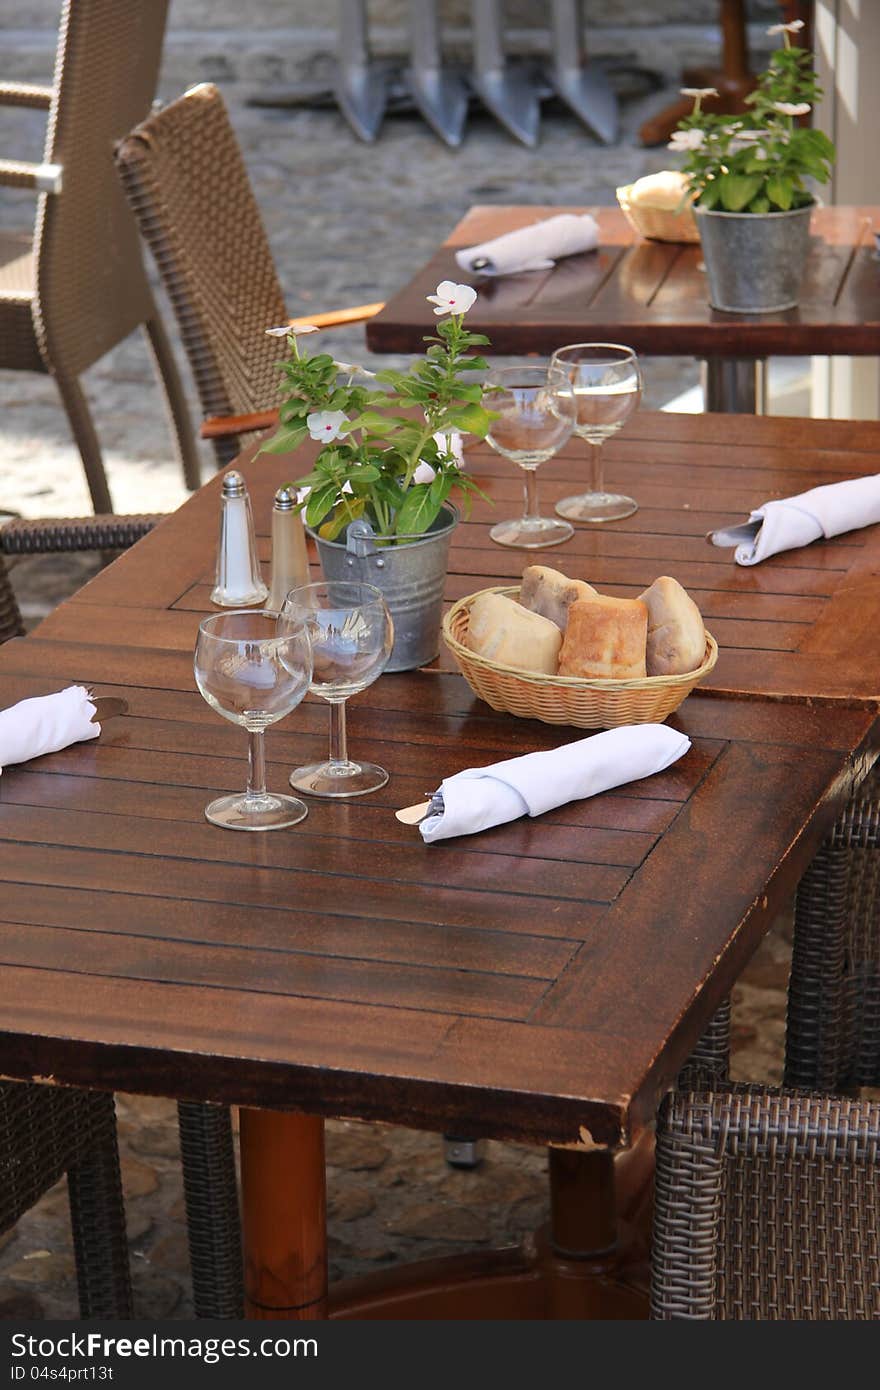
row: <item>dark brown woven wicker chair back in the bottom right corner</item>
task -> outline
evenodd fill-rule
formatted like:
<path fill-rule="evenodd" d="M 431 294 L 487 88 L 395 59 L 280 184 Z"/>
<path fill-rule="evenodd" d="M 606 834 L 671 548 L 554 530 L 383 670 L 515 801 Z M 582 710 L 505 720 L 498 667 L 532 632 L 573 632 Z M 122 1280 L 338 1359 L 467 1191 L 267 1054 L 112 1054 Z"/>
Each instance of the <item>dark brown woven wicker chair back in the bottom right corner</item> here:
<path fill-rule="evenodd" d="M 880 1105 L 673 1091 L 660 1109 L 652 1318 L 880 1318 Z"/>

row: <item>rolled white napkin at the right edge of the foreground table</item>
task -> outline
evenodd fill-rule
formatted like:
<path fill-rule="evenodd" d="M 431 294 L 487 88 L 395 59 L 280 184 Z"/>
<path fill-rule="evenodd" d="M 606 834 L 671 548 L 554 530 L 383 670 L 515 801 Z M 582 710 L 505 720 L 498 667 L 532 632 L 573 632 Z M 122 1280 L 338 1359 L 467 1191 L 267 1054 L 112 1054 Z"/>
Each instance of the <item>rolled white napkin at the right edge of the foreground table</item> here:
<path fill-rule="evenodd" d="M 880 521 L 880 473 L 810 488 L 797 498 L 765 502 L 742 525 L 712 531 L 713 545 L 735 545 L 737 564 L 760 564 L 780 550 L 794 550 L 844 531 Z"/>

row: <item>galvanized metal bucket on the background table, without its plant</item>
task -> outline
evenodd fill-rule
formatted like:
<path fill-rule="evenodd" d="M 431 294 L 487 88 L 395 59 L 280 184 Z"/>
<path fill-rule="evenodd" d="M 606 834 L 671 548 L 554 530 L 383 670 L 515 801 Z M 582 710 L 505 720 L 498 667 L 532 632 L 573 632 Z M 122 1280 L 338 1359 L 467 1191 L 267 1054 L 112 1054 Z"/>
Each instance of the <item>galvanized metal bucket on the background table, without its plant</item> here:
<path fill-rule="evenodd" d="M 809 250 L 813 204 L 791 213 L 720 213 L 695 207 L 709 303 L 728 314 L 794 309 Z"/>

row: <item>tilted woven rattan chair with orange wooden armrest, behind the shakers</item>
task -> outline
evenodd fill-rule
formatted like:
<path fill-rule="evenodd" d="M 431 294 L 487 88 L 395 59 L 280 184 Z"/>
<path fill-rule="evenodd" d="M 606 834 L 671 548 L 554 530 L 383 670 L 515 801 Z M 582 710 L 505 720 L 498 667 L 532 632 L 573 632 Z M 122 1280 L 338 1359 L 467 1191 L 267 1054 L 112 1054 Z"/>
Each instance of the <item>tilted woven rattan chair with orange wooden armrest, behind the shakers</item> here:
<path fill-rule="evenodd" d="M 281 356 L 266 329 L 288 322 L 284 295 L 224 100 L 202 83 L 117 146 L 117 168 L 150 247 L 196 381 L 220 466 L 241 435 L 275 418 Z M 309 316 L 360 322 L 381 304 Z M 306 320 L 292 320 L 304 322 Z"/>

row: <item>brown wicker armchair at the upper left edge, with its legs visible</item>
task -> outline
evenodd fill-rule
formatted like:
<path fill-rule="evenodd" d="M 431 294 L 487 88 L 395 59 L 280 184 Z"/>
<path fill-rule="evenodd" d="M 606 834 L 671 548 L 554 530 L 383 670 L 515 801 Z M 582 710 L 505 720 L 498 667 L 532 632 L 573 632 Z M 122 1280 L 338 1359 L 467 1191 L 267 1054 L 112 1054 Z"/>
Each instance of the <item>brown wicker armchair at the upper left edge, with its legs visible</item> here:
<path fill-rule="evenodd" d="M 44 163 L 0 160 L 0 186 L 38 193 L 35 231 L 0 232 L 0 367 L 49 373 L 65 406 L 96 512 L 111 512 L 79 375 L 146 329 L 186 485 L 199 456 L 177 366 L 147 285 L 113 142 L 150 110 L 167 0 L 67 0 L 51 88 L 0 83 L 0 106 L 49 113 Z"/>

